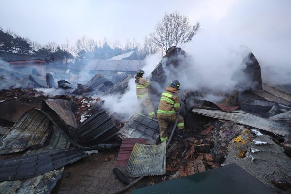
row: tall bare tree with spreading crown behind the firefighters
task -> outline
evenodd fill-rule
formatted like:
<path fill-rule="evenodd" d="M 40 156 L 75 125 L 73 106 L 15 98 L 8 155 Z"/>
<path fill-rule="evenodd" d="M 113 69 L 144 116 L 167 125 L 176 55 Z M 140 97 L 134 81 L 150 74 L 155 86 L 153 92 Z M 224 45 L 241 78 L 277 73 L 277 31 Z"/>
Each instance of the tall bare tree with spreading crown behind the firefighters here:
<path fill-rule="evenodd" d="M 192 40 L 193 36 L 200 29 L 200 23 L 190 25 L 188 16 L 181 16 L 178 12 L 165 14 L 162 21 L 155 27 L 155 32 L 150 34 L 154 42 L 162 49 L 168 48 Z"/>

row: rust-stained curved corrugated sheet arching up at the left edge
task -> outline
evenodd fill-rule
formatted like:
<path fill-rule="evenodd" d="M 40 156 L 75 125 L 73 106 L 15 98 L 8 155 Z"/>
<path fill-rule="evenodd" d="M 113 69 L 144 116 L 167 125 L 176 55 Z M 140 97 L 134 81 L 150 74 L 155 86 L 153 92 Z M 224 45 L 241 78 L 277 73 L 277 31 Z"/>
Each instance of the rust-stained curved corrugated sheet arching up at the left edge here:
<path fill-rule="evenodd" d="M 50 131 L 51 126 L 46 114 L 38 109 L 32 109 L 24 113 L 0 140 L 0 154 L 41 147 L 44 145 Z"/>

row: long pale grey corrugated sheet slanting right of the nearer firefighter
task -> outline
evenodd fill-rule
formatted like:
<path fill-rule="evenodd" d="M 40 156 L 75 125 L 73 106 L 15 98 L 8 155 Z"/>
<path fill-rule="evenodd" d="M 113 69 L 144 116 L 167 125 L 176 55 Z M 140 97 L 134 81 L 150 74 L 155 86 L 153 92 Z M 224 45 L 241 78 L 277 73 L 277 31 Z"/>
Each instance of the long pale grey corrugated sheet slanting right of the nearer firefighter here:
<path fill-rule="evenodd" d="M 278 135 L 288 135 L 291 132 L 290 127 L 284 123 L 260 118 L 249 113 L 244 113 L 243 111 L 226 113 L 220 110 L 193 109 L 192 112 L 217 119 L 234 121 L 243 125 L 249 125 Z"/>

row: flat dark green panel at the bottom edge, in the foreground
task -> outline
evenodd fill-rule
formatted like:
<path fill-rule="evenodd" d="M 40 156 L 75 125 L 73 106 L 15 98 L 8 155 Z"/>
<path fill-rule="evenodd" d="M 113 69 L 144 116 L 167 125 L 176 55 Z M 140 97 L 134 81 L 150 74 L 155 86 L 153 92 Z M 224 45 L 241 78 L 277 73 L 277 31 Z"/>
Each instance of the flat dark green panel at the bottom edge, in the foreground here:
<path fill-rule="evenodd" d="M 169 180 L 132 194 L 275 194 L 237 164 Z"/>

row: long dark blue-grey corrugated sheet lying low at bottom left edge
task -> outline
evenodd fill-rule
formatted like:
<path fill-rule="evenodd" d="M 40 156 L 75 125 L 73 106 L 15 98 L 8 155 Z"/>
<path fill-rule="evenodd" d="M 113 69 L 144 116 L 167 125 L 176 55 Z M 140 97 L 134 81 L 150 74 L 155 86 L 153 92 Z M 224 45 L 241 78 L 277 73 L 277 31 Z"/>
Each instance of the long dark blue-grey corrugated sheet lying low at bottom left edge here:
<path fill-rule="evenodd" d="M 19 180 L 42 175 L 87 155 L 79 149 L 58 149 L 18 159 L 0 161 L 0 181 Z"/>

